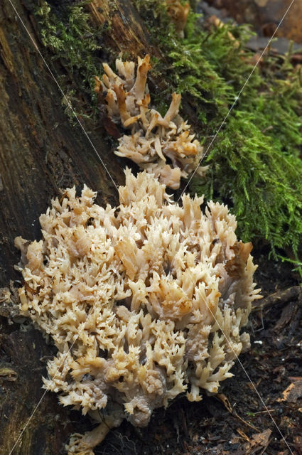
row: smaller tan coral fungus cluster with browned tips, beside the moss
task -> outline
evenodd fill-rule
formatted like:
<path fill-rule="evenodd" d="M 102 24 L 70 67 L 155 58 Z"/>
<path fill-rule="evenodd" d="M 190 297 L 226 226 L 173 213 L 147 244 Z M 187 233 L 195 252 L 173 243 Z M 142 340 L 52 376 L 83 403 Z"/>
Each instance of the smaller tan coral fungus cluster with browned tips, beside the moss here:
<path fill-rule="evenodd" d="M 104 75 L 102 81 L 95 78 L 95 90 L 107 93 L 107 112 L 112 121 L 131 132 L 119 139 L 114 153 L 131 159 L 161 183 L 176 189 L 180 177 L 187 177 L 198 167 L 203 147 L 178 114 L 181 95 L 173 93 L 164 117 L 149 107 L 151 100 L 146 87 L 149 60 L 149 55 L 139 57 L 136 77 L 134 62 L 117 59 L 119 75 L 104 63 Z M 207 167 L 198 167 L 198 173 L 204 176 Z"/>

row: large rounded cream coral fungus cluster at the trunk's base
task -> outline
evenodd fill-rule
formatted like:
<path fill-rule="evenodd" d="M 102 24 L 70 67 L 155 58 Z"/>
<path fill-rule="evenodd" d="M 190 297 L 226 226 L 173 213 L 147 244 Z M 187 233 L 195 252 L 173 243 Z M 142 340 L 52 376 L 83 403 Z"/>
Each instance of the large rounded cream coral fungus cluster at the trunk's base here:
<path fill-rule="evenodd" d="M 42 240 L 16 239 L 21 313 L 58 348 L 45 385 L 84 414 L 115 404 L 111 426 L 124 417 L 144 426 L 183 392 L 191 401 L 200 388 L 217 392 L 249 346 L 240 329 L 259 297 L 251 245 L 237 241 L 225 205 L 202 213 L 203 198 L 179 205 L 165 189 L 127 169 L 118 208 L 71 188 L 41 215 Z M 70 454 L 92 454 L 102 432 L 73 441 Z"/>

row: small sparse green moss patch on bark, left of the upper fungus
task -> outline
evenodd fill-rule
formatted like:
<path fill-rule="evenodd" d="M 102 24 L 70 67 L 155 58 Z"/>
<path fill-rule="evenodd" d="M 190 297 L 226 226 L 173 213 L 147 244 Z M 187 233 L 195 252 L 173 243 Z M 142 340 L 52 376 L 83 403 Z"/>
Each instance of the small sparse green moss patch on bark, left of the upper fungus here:
<path fill-rule="evenodd" d="M 39 18 L 43 45 L 50 50 L 53 62 L 60 62 L 65 74 L 58 77 L 68 101 L 77 115 L 93 119 L 95 103 L 91 102 L 94 76 L 99 73 L 101 60 L 98 58 L 104 28 L 95 29 L 85 12 L 87 1 L 73 6 L 54 9 L 43 1 L 36 9 Z M 87 100 L 83 99 L 83 96 Z M 66 112 L 73 119 L 68 103 Z"/>

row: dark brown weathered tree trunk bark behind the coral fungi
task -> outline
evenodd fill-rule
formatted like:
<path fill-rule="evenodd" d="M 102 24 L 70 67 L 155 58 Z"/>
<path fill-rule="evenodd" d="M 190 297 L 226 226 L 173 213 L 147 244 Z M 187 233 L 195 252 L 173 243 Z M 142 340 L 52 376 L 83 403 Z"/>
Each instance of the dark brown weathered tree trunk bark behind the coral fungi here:
<path fill-rule="evenodd" d="M 14 6 L 50 63 L 33 15 L 36 4 L 14 0 Z M 96 26 L 110 22 L 110 33 L 105 37 L 109 52 L 128 50 L 137 55 L 143 50 L 151 51 L 144 26 L 129 1 L 95 0 L 87 5 L 87 10 Z M 102 125 L 90 133 L 90 139 L 112 179 L 82 129 L 70 124 L 61 103 L 63 95 L 24 26 L 10 1 L 1 1 L 0 288 L 7 287 L 10 280 L 20 279 L 14 270 L 18 262 L 14 238 L 21 235 L 34 240 L 41 236 L 38 217 L 45 212 L 50 198 L 60 196 L 60 188 L 86 183 L 98 192 L 98 203 L 115 205 L 115 185 L 124 181 L 123 161 L 109 149 L 102 137 Z M 60 63 L 51 68 L 56 76 L 65 71 Z M 72 419 L 80 419 L 80 413 L 71 417 L 70 410 L 58 405 L 58 397 L 50 392 L 39 402 L 43 395 L 42 375 L 46 374 L 45 359 L 53 355 L 54 349 L 33 328 L 21 331 L 18 324 L 3 316 L 0 323 L 0 452 L 63 453 L 70 432 L 79 431 Z M 36 405 L 37 410 L 26 426 Z"/>

